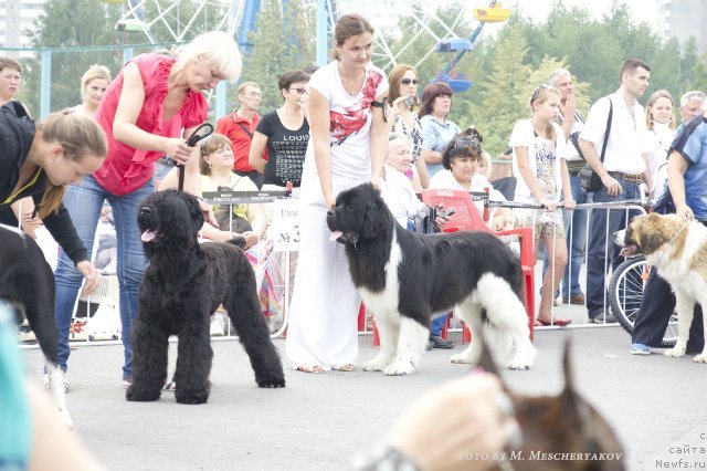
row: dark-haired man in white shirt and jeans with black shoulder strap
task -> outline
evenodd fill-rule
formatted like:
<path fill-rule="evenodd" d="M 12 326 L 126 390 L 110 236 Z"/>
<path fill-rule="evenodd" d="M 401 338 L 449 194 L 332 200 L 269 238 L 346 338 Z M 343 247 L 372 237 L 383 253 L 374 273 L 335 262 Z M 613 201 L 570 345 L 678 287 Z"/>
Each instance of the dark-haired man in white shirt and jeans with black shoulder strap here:
<path fill-rule="evenodd" d="M 602 182 L 594 192 L 594 202 L 637 199 L 641 197 L 639 185 L 650 179 L 641 144 L 641 136 L 646 129 L 645 114 L 637 98 L 648 87 L 651 67 L 641 60 L 629 59 L 621 66 L 620 77 L 619 90 L 592 105 L 579 139 L 584 159 Z M 602 163 L 600 156 L 610 109 L 612 117 Z M 592 211 L 587 259 L 587 310 L 590 322 L 615 322 L 604 311 L 604 280 L 609 265 L 615 268 L 620 262 L 619 250 L 611 240 L 612 234 L 625 227 L 626 211 L 623 209 Z"/>

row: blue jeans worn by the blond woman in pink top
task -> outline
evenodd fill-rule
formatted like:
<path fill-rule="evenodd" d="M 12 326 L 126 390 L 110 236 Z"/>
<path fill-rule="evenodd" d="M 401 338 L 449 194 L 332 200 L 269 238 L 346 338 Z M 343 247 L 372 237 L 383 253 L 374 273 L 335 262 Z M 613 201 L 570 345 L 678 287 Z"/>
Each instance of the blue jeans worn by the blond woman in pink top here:
<path fill-rule="evenodd" d="M 122 339 L 125 349 L 123 377 L 131 374 L 133 345 L 130 328 L 137 318 L 137 295 L 147 266 L 140 232 L 137 228 L 137 209 L 148 195 L 155 192 L 155 184 L 150 179 L 141 188 L 131 193 L 117 197 L 103 188 L 88 176 L 80 185 L 72 185 L 64 196 L 64 206 L 68 210 L 78 237 L 88 253 L 93 251 L 96 226 L 101 217 L 101 208 L 107 199 L 113 208 L 117 238 L 117 274 L 120 286 L 120 324 Z M 66 370 L 68 359 L 68 328 L 83 281 L 82 274 L 62 250 L 56 265 L 56 329 L 59 331 L 59 366 Z"/>

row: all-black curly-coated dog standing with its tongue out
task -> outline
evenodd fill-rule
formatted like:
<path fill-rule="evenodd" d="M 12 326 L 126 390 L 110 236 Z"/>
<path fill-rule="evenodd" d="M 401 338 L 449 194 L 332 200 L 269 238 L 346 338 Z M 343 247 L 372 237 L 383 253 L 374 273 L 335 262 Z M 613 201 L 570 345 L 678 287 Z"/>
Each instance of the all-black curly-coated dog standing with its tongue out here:
<path fill-rule="evenodd" d="M 139 292 L 133 327 L 133 385 L 126 398 L 157 400 L 167 378 L 170 335 L 179 337 L 172 380 L 181 404 L 209 398 L 211 349 L 209 321 L 220 304 L 226 308 L 260 387 L 284 387 L 282 362 L 257 300 L 255 274 L 240 240 L 200 244 L 203 214 L 196 197 L 167 190 L 150 195 L 137 223 L 149 266 Z"/>

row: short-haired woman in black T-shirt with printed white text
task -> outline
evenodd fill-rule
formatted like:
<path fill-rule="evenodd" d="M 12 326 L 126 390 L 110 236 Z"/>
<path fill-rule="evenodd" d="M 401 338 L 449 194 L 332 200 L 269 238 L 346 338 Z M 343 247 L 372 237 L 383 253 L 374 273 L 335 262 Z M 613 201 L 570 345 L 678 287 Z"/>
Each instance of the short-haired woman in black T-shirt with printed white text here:
<path fill-rule="evenodd" d="M 302 165 L 309 143 L 307 122 L 307 84 L 309 74 L 291 70 L 279 76 L 277 88 L 283 96 L 283 105 L 265 114 L 253 134 L 249 163 L 264 175 L 264 190 L 282 190 L 291 181 L 299 188 Z M 267 147 L 267 160 L 263 150 Z M 266 205 L 267 223 L 273 218 L 272 205 Z"/>

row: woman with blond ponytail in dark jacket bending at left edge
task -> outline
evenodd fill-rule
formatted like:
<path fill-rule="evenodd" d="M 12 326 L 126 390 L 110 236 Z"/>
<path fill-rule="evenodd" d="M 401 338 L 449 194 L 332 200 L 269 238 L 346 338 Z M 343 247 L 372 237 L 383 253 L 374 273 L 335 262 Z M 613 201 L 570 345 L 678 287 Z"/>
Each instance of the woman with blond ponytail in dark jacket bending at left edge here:
<path fill-rule="evenodd" d="M 98 273 L 62 199 L 67 185 L 103 164 L 108 151 L 103 129 L 89 117 L 68 111 L 35 123 L 20 103 L 9 102 L 0 107 L 0 223 L 18 227 L 10 206 L 32 197 L 39 218 L 91 293 L 98 285 Z"/>

